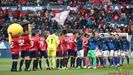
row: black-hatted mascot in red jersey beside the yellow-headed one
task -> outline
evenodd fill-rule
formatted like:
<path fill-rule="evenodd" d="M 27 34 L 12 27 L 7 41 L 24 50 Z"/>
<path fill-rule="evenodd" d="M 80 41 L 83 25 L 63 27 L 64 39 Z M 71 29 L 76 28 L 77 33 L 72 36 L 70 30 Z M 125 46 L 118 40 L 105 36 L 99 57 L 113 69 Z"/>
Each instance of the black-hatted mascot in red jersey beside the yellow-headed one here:
<path fill-rule="evenodd" d="M 29 69 L 29 50 L 30 50 L 30 34 L 31 34 L 31 28 L 30 28 L 30 22 L 29 21 L 24 21 L 20 22 L 20 25 L 23 27 L 23 34 L 20 37 L 20 42 L 21 42 L 21 61 L 20 61 L 20 67 L 19 71 L 22 71 L 22 65 L 25 60 L 25 71 L 28 71 Z"/>

